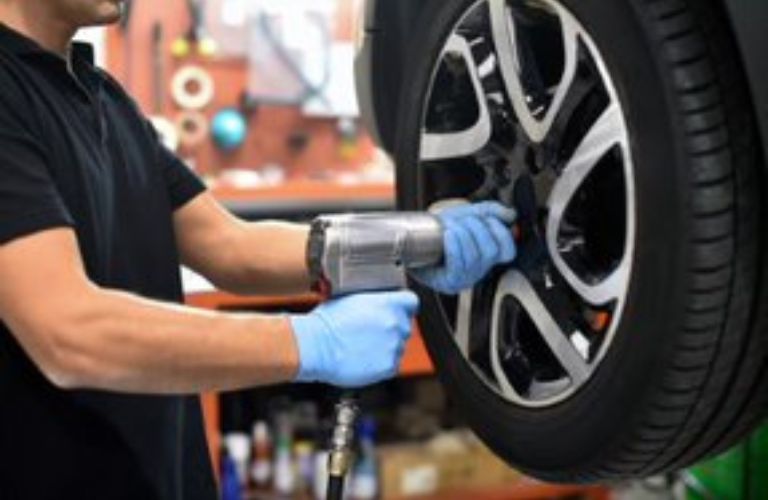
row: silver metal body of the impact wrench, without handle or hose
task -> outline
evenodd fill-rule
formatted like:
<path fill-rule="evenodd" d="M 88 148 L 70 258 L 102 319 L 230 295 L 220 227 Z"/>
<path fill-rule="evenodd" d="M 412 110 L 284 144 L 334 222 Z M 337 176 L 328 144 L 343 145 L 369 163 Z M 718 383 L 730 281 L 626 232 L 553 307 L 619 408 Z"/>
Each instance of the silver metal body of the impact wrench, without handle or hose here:
<path fill-rule="evenodd" d="M 322 263 L 334 295 L 404 288 L 406 270 L 439 264 L 443 227 L 429 213 L 320 217 Z"/>

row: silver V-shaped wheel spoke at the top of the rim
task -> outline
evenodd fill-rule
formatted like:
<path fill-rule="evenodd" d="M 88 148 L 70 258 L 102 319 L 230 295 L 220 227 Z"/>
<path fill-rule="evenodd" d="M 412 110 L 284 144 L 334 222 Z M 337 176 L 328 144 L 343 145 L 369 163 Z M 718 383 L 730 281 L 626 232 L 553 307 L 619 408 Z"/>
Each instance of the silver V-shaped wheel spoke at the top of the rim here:
<path fill-rule="evenodd" d="M 579 52 L 579 29 L 570 16 L 561 12 L 562 7 L 555 7 L 563 36 L 564 68 L 560 83 L 557 85 L 552 102 L 544 116 L 534 116 L 528 104 L 526 89 L 521 80 L 523 64 L 519 56 L 518 35 L 515 21 L 506 0 L 489 0 L 491 30 L 498 55 L 499 68 L 506 86 L 512 107 L 528 138 L 540 143 L 549 135 L 555 117 L 559 114 L 576 74 Z"/>

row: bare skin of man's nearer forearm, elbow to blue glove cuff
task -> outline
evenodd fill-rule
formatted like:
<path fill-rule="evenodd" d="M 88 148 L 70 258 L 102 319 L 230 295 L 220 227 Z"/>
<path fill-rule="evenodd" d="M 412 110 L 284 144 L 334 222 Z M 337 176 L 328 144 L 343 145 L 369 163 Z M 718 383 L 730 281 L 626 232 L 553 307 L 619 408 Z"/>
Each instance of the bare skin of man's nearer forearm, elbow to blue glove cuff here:
<path fill-rule="evenodd" d="M 56 358 L 69 388 L 197 393 L 288 382 L 298 370 L 286 318 L 196 310 L 99 289 L 62 314 Z"/>

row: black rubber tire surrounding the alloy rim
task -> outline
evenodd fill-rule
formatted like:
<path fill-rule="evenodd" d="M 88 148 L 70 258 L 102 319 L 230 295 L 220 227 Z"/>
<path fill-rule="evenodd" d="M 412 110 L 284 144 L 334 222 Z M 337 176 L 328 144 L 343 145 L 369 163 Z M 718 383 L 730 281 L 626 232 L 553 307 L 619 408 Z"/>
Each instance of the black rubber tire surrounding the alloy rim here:
<path fill-rule="evenodd" d="M 395 150 L 403 209 L 428 203 L 415 168 L 426 93 L 474 3 L 438 2 L 411 42 Z M 576 394 L 534 409 L 479 380 L 424 289 L 422 330 L 450 397 L 510 464 L 561 482 L 680 469 L 742 439 L 768 399 L 764 179 L 749 92 L 715 1 L 560 3 L 602 53 L 636 166 L 637 244 L 613 344 Z"/>

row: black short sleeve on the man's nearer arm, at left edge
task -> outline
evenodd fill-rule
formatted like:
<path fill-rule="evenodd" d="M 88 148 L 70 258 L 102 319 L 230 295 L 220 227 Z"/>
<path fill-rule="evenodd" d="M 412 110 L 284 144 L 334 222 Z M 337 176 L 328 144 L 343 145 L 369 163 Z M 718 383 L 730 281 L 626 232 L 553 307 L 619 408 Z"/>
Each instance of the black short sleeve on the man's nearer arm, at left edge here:
<path fill-rule="evenodd" d="M 39 142 L 13 114 L 0 118 L 0 244 L 46 229 L 74 226 Z"/>

